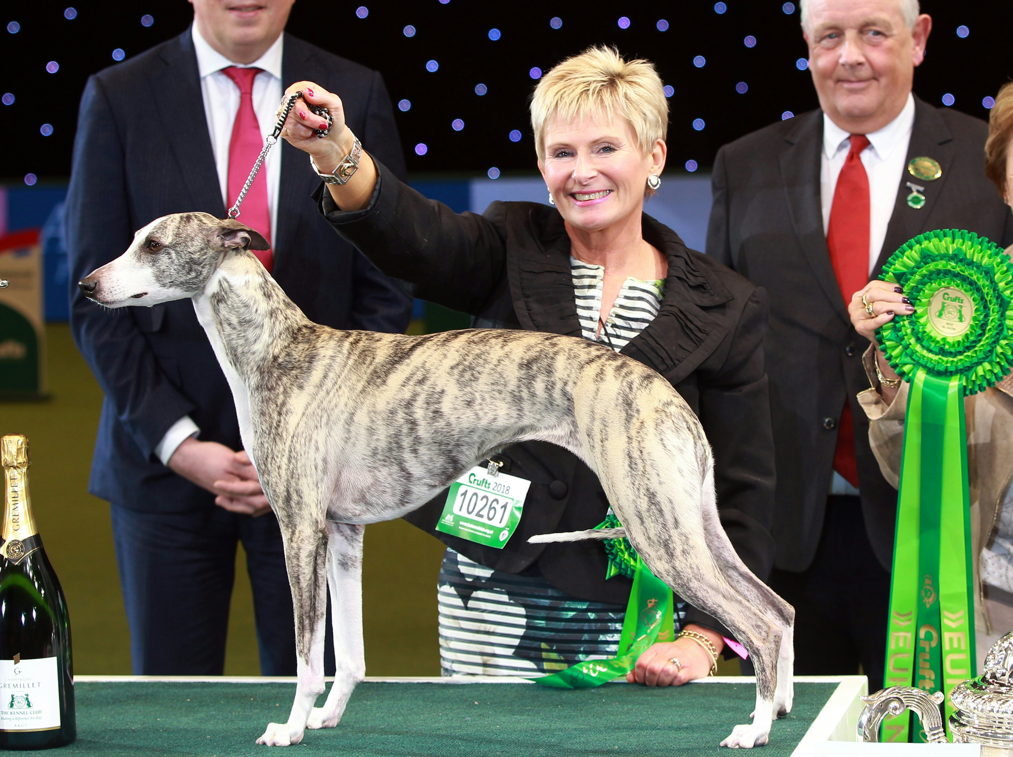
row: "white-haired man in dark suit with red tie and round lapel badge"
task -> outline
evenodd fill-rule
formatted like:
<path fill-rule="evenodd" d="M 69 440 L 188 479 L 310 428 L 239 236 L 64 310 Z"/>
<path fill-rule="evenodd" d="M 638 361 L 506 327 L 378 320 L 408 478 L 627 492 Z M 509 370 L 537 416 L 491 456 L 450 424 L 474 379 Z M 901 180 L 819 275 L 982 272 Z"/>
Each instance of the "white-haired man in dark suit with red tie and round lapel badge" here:
<path fill-rule="evenodd" d="M 932 24 L 917 0 L 802 0 L 801 15 L 821 109 L 721 148 L 707 251 L 770 295 L 770 583 L 797 612 L 795 671 L 861 664 L 874 691 L 897 490 L 856 399 L 869 381 L 847 303 L 908 239 L 957 228 L 1007 245 L 1013 218 L 985 176 L 986 124 L 911 92 Z"/>

